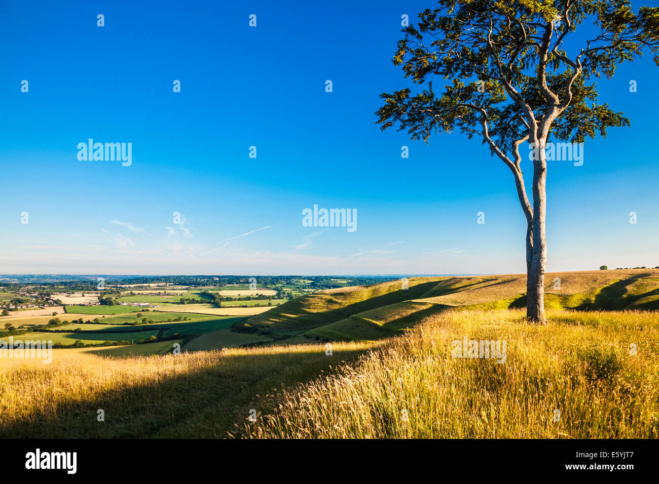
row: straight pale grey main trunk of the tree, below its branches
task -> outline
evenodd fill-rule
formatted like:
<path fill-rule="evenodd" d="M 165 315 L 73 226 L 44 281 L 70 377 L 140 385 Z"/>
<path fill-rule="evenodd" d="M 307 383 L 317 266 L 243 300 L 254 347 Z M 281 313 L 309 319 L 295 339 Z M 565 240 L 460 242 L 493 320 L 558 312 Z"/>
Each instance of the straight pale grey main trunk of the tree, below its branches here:
<path fill-rule="evenodd" d="M 527 254 L 527 319 L 531 323 L 546 324 L 544 315 L 544 270 L 547 263 L 547 242 L 544 220 L 546 214 L 547 161 L 544 141 L 538 149 L 538 159 L 533 162 L 533 219 L 531 227 L 532 252 Z M 529 235 L 527 233 L 527 251 Z"/>

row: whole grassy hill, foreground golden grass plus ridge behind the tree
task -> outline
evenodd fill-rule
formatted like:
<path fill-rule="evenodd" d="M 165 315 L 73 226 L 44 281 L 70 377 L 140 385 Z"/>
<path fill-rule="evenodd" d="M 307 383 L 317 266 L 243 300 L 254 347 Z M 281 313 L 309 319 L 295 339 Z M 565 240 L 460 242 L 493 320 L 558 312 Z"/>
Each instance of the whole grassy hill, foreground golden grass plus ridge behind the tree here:
<path fill-rule="evenodd" d="M 0 437 L 658 438 L 659 270 L 546 281 L 547 326 L 516 309 L 520 275 L 329 290 L 250 317 L 254 333 L 231 330 L 243 318 L 99 315 L 43 338 L 198 336 L 2 360 Z M 505 341 L 505 363 L 453 358 L 465 336 Z"/>

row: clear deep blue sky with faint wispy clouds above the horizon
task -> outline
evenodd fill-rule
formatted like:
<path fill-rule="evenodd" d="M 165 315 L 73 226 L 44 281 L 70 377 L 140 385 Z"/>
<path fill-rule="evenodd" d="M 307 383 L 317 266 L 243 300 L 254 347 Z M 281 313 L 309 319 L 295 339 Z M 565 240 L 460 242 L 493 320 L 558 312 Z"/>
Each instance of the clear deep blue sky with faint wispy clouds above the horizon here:
<path fill-rule="evenodd" d="M 0 2 L 0 273 L 525 271 L 501 161 L 374 124 L 409 86 L 401 15 L 434 3 L 140 4 Z M 550 165 L 548 271 L 659 265 L 658 74 L 648 57 L 600 80 L 631 127 Z M 132 165 L 79 161 L 88 138 L 132 143 Z M 314 204 L 357 209 L 357 230 L 304 227 Z"/>

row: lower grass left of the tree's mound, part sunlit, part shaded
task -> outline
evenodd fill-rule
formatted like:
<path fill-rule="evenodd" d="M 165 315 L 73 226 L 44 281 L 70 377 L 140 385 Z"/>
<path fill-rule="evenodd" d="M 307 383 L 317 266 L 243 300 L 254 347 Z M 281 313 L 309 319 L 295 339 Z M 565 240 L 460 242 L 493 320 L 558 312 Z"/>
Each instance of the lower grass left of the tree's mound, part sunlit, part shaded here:
<path fill-rule="evenodd" d="M 335 344 L 333 356 L 306 344 L 130 358 L 54 350 L 49 364 L 3 358 L 0 437 L 227 437 L 255 394 L 316 377 L 369 346 Z"/>

